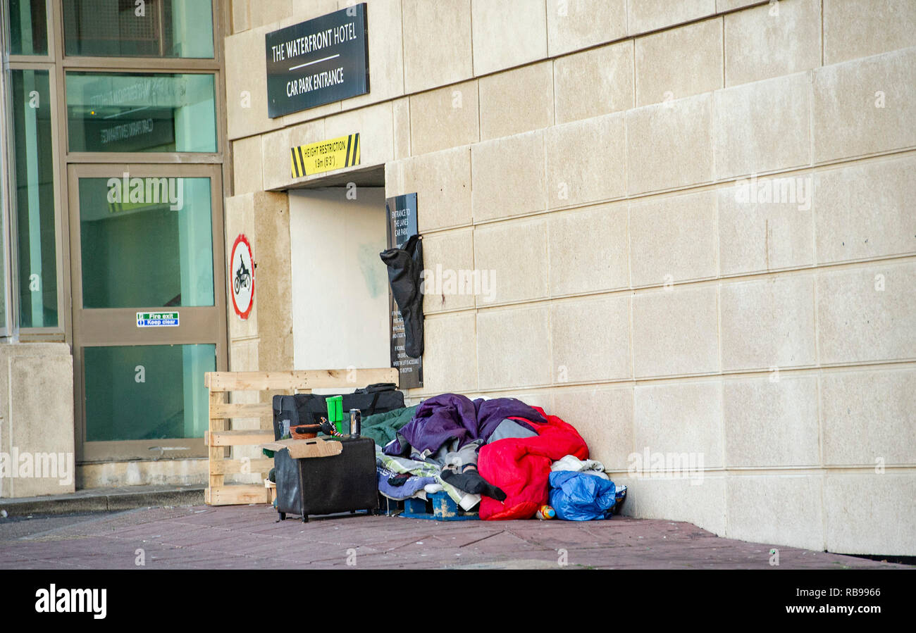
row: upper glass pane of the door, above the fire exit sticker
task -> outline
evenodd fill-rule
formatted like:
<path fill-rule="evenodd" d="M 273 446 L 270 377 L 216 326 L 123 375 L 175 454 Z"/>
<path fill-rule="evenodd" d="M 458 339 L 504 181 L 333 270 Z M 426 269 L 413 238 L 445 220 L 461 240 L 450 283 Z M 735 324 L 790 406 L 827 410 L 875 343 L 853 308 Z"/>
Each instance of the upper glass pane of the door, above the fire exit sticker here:
<path fill-rule="evenodd" d="M 79 187 L 83 307 L 213 306 L 210 178 Z"/>

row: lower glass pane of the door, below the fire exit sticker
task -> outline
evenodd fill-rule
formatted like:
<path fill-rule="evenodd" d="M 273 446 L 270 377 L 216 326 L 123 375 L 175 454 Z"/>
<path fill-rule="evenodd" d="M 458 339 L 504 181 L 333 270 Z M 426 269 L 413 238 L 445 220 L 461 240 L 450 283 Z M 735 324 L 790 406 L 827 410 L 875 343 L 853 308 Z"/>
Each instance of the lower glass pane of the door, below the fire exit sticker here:
<path fill-rule="evenodd" d="M 216 346 L 84 348 L 86 441 L 202 437 Z"/>

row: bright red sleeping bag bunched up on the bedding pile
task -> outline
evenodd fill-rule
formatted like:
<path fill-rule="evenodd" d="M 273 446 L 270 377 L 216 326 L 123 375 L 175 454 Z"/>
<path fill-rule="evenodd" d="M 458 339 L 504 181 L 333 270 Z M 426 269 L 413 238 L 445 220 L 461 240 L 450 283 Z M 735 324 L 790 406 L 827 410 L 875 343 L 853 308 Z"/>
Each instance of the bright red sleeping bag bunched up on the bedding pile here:
<path fill-rule="evenodd" d="M 529 423 L 537 437 L 507 437 L 480 449 L 480 476 L 506 493 L 502 502 L 481 498 L 481 519 L 530 519 L 547 503 L 551 462 L 567 455 L 588 459 L 588 446 L 578 431 L 556 415 L 533 408 L 547 418 L 547 424 Z"/>

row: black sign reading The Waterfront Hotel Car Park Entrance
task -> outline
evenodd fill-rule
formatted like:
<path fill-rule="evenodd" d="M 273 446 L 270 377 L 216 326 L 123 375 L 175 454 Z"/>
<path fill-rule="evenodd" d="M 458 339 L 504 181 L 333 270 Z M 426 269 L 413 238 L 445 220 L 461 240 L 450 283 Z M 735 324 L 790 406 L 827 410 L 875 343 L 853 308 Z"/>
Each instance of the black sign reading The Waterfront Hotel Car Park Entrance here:
<path fill-rule="evenodd" d="M 267 116 L 369 91 L 365 3 L 267 33 Z"/>

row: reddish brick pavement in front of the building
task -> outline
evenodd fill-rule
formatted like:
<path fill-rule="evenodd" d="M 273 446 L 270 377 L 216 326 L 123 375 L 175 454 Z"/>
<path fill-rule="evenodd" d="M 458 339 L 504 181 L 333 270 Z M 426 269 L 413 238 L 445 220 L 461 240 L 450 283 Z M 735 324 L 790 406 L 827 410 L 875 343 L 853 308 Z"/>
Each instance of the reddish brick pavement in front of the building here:
<path fill-rule="evenodd" d="M 18 531 L 0 526 L 0 568 L 132 569 L 138 567 L 137 550 L 143 550 L 144 567 L 153 569 L 771 568 L 770 544 L 723 539 L 668 520 L 439 522 L 359 514 L 301 523 L 276 518 L 264 505 L 195 506 L 59 520 L 57 527 L 27 535 L 21 526 Z M 778 549 L 780 569 L 908 567 Z"/>

